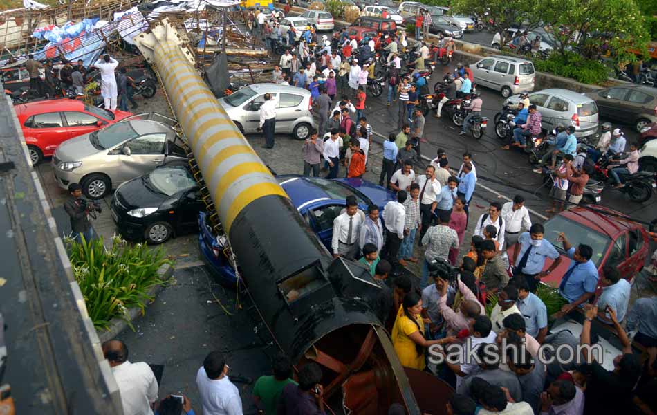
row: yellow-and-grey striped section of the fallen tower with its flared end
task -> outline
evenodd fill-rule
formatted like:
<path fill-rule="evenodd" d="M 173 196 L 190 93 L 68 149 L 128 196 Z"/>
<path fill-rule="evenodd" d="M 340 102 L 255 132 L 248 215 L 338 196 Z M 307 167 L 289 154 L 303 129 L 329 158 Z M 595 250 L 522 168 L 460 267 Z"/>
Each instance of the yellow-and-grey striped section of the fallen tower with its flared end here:
<path fill-rule="evenodd" d="M 169 19 L 138 35 L 135 42 L 147 61 L 157 66 L 226 234 L 230 235 L 237 215 L 252 201 L 270 195 L 287 199 L 196 72 L 192 53 L 182 46 Z"/>

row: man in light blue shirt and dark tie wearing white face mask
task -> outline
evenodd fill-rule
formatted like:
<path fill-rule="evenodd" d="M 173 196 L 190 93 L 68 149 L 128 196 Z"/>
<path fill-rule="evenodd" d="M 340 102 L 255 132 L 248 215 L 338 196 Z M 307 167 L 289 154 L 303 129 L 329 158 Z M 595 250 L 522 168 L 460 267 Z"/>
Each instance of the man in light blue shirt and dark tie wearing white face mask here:
<path fill-rule="evenodd" d="M 513 276 L 524 278 L 532 293 L 536 292 L 539 281 L 561 264 L 561 255 L 555 247 L 543 239 L 545 228 L 540 223 L 534 223 L 529 232 L 524 232 L 518 238 L 518 243 L 513 248 L 513 261 L 515 265 Z M 553 264 L 547 270 L 543 270 L 545 259 L 554 259 Z"/>

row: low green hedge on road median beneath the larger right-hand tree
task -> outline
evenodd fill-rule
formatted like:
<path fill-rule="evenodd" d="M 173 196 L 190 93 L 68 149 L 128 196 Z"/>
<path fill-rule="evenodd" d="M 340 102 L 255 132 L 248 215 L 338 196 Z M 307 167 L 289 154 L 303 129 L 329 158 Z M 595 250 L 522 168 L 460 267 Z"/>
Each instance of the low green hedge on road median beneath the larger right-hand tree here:
<path fill-rule="evenodd" d="M 607 81 L 608 75 L 604 64 L 592 59 L 584 59 L 575 53 L 566 53 L 566 55 L 553 53 L 548 59 L 535 59 L 534 66 L 538 71 L 569 77 L 584 84 L 602 84 Z"/>

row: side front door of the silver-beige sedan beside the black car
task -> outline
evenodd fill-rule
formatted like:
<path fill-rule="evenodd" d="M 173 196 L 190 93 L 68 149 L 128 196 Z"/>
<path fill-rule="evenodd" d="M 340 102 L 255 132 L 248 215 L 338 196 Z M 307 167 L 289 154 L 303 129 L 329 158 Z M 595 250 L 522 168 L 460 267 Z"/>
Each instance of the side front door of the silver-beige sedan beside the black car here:
<path fill-rule="evenodd" d="M 119 184 L 142 176 L 163 164 L 166 139 L 166 133 L 152 133 L 126 142 L 118 154 L 118 171 L 109 172 L 112 182 Z"/>

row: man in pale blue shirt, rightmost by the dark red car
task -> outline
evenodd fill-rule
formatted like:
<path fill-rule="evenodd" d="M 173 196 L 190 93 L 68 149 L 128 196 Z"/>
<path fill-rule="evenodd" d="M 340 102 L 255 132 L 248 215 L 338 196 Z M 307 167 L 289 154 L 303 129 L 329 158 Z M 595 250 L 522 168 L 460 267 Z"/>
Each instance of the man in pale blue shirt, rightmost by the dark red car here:
<path fill-rule="evenodd" d="M 627 279 L 621 278 L 618 269 L 606 265 L 602 268 L 602 294 L 598 298 L 598 320 L 613 324 L 607 307 L 616 313 L 616 320 L 622 322 L 629 304 L 630 285 Z"/>

